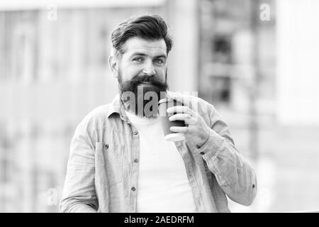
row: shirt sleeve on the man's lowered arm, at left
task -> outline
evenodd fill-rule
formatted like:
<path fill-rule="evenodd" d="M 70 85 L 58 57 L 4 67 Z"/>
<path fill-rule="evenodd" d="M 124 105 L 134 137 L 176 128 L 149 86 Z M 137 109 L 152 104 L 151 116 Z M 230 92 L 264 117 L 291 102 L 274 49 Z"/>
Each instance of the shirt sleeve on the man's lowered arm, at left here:
<path fill-rule="evenodd" d="M 67 175 L 60 201 L 61 212 L 96 212 L 94 143 L 82 122 L 72 138 Z"/>

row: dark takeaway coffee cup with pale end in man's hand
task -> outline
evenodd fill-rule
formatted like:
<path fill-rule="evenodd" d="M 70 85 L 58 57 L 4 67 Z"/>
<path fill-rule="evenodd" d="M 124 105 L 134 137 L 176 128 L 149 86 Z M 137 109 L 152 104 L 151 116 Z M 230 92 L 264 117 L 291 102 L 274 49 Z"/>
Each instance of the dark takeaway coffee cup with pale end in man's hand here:
<path fill-rule="evenodd" d="M 159 111 L 159 118 L 161 119 L 162 128 L 164 131 L 164 136 L 167 141 L 178 141 L 184 140 L 185 136 L 184 133 L 174 133 L 170 130 L 171 126 L 179 126 L 184 127 L 184 121 L 169 121 L 169 117 L 173 116 L 174 114 L 168 114 L 167 109 L 172 106 L 183 106 L 181 102 L 176 101 L 171 98 L 161 99 L 158 102 L 158 111 Z"/>

